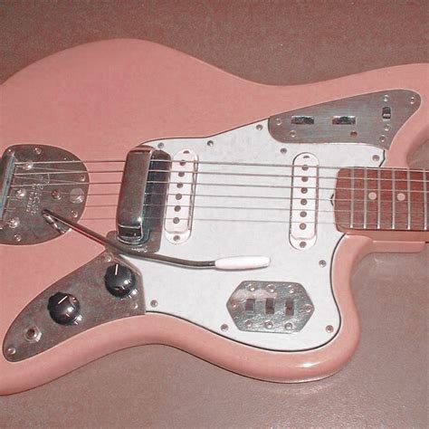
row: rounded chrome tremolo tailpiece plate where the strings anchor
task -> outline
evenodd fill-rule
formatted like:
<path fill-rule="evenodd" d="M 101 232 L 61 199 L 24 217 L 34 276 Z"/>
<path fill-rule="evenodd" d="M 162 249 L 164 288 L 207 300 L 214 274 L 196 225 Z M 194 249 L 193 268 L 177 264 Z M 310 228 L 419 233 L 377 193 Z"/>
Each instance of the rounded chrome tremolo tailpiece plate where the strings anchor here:
<path fill-rule="evenodd" d="M 67 228 L 55 231 L 46 224 L 43 208 L 66 216 L 73 212 L 74 219 L 81 218 L 89 175 L 81 160 L 67 150 L 12 146 L 5 151 L 0 167 L 0 243 L 43 243 L 65 233 Z M 79 187 L 70 186 L 78 176 L 83 182 Z"/>

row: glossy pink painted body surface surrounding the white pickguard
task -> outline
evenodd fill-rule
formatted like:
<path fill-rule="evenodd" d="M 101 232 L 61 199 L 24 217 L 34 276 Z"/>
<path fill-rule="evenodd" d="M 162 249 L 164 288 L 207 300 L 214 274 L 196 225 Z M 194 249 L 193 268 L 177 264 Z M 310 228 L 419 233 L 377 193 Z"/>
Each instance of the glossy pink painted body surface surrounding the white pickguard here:
<path fill-rule="evenodd" d="M 428 64 L 413 64 L 276 87 L 244 81 L 155 43 L 91 43 L 36 62 L 2 85 L 0 148 L 3 153 L 9 146 L 33 143 L 64 148 L 82 160 L 123 159 L 139 142 L 154 138 L 209 136 L 304 106 L 408 89 L 420 94 L 422 105 L 397 133 L 384 164 L 407 167 L 407 156 L 429 138 L 428 76 Z M 101 234 L 115 227 L 111 222 L 89 225 Z M 420 252 L 427 233 L 382 238 L 348 235 L 341 241 L 331 272 L 341 326 L 323 347 L 300 352 L 253 348 L 185 320 L 149 313 L 102 324 L 20 362 L 9 362 L 2 354 L 0 394 L 40 386 L 106 354 L 141 344 L 181 348 L 264 380 L 329 377 L 358 346 L 359 319 L 350 291 L 356 262 L 371 252 Z M 0 245 L 2 343 L 28 302 L 101 250 L 76 233 L 42 244 Z"/>

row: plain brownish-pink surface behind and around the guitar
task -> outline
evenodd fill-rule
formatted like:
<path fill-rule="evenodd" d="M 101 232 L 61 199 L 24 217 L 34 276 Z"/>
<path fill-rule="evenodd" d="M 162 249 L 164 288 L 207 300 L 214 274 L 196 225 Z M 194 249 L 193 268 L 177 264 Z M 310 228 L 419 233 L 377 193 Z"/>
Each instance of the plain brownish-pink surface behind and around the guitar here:
<path fill-rule="evenodd" d="M 164 43 L 246 79 L 320 81 L 428 62 L 427 2 L 4 2 L 5 79 L 80 43 Z M 429 164 L 428 145 L 414 167 Z M 174 348 L 130 348 L 48 385 L 0 398 L 0 426 L 427 425 L 426 251 L 368 256 L 354 275 L 355 358 L 305 385 L 236 376 Z"/>

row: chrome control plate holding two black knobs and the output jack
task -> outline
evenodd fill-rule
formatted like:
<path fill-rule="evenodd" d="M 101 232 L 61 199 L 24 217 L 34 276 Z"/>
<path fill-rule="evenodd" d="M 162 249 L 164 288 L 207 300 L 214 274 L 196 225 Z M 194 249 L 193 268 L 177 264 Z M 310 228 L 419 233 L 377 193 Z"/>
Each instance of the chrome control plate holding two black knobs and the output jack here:
<path fill-rule="evenodd" d="M 111 295 L 104 284 L 104 274 L 115 262 L 129 267 L 136 276 L 137 288 L 126 298 Z M 48 300 L 59 291 L 71 293 L 79 300 L 81 317 L 77 323 L 64 326 L 51 319 L 47 310 Z M 110 253 L 102 253 L 53 283 L 21 311 L 6 333 L 3 353 L 7 360 L 18 362 L 102 323 L 139 314 L 145 314 L 140 272 L 129 262 Z"/>

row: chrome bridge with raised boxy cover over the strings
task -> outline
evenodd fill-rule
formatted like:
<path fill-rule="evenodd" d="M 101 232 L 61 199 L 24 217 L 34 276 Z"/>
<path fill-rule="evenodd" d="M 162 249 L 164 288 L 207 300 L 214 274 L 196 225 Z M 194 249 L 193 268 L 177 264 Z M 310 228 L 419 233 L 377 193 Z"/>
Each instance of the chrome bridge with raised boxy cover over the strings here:
<path fill-rule="evenodd" d="M 157 252 L 164 221 L 170 157 L 149 146 L 129 152 L 120 186 L 118 239 L 134 246 L 148 243 Z"/>

